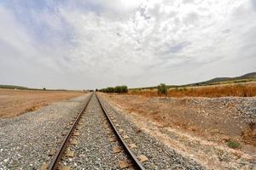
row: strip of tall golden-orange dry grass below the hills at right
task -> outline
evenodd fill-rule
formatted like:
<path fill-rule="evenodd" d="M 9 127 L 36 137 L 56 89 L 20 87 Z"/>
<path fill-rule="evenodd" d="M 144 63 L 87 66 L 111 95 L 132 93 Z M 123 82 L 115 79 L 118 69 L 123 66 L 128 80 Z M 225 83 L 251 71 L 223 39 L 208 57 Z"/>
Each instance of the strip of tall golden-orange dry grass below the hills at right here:
<path fill-rule="evenodd" d="M 129 94 L 143 95 L 146 97 L 156 97 L 156 89 L 152 90 L 130 90 Z M 193 87 L 193 88 L 170 88 L 168 90 L 168 97 L 224 97 L 224 96 L 237 96 L 237 97 L 253 97 L 256 96 L 256 82 L 228 84 L 228 85 L 214 85 L 206 87 Z"/>

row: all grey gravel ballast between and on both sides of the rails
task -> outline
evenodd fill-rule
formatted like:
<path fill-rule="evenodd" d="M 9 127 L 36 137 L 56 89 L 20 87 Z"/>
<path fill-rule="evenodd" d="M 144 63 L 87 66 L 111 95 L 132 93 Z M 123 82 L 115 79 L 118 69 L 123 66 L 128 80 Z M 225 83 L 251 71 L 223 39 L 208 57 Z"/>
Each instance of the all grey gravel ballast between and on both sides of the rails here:
<path fill-rule="evenodd" d="M 60 146 L 58 141 L 64 139 L 61 134 L 78 116 L 88 97 L 84 95 L 56 102 L 39 111 L 0 120 L 0 169 L 40 169 L 44 162 L 49 163 L 50 151 Z M 115 111 L 106 99 L 100 99 L 108 113 L 113 115 L 114 124 L 123 129 L 122 135 L 128 135 L 125 142 L 136 144 L 137 148 L 131 149 L 134 154 L 148 157 L 148 161 L 143 162 L 146 169 L 206 169 L 140 131 L 124 115 Z M 78 144 L 67 148 L 74 151 L 74 156 L 63 158 L 61 163 L 73 169 L 119 169 L 119 161 L 127 160 L 127 156 L 125 152 L 113 153 L 113 147 L 119 146 L 119 142 L 109 141 L 114 135 L 96 95 L 92 96 L 80 121 L 80 135 L 72 137 Z"/>

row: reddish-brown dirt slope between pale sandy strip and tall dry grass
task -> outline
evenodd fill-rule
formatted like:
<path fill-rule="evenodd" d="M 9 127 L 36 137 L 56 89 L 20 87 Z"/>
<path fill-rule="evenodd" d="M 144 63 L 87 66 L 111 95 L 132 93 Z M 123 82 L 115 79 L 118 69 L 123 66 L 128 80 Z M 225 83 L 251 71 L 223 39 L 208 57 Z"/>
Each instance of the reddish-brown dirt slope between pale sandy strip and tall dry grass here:
<path fill-rule="evenodd" d="M 240 115 L 244 105 L 255 98 L 169 98 L 144 97 L 140 95 L 103 94 L 107 99 L 122 106 L 127 111 L 137 112 L 165 127 L 182 127 L 193 133 L 207 135 L 209 139 L 226 136 L 242 140 L 250 123 Z M 240 109 L 238 109 L 240 108 Z M 254 120 L 255 121 L 255 120 Z M 255 122 L 253 122 L 255 124 Z M 213 132 L 214 131 L 214 132 Z M 216 132 L 215 132 L 216 131 Z M 222 135 L 220 135 L 222 134 Z M 256 146 L 256 141 L 247 143 Z"/>

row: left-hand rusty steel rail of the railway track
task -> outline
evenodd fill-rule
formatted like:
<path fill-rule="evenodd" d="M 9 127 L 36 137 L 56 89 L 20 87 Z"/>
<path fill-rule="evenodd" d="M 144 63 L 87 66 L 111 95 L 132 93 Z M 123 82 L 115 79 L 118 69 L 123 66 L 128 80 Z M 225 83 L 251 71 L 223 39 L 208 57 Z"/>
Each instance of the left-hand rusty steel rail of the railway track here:
<path fill-rule="evenodd" d="M 61 156 L 64 153 L 64 151 L 66 150 L 68 141 L 72 137 L 72 133 L 73 133 L 75 127 L 77 126 L 77 124 L 79 123 L 79 120 L 81 119 L 81 116 L 83 115 L 87 105 L 89 104 L 92 95 L 93 94 L 90 94 L 90 97 L 88 97 L 88 100 L 86 101 L 83 110 L 79 113 L 79 116 L 77 116 L 75 122 L 73 123 L 72 127 L 70 128 L 69 132 L 67 133 L 67 136 L 62 141 L 61 146 L 57 150 L 57 152 L 56 152 L 55 156 L 53 157 L 52 161 L 50 161 L 49 166 L 47 167 L 47 169 L 55 170 L 59 166 L 59 162 L 61 161 Z"/>

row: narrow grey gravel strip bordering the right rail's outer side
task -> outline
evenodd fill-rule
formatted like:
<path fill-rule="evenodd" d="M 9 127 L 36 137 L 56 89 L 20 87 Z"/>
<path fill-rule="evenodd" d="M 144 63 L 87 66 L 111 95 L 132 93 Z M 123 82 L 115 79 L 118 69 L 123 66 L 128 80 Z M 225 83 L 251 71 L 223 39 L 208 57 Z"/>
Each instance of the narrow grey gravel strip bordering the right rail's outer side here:
<path fill-rule="evenodd" d="M 115 111 L 107 100 L 102 99 L 102 101 L 108 113 L 115 116 L 120 128 L 124 129 L 129 136 L 126 141 L 137 145 L 137 148 L 133 149 L 134 153 L 137 156 L 143 154 L 148 157 L 149 160 L 143 163 L 146 169 L 205 169 L 197 162 L 181 156 L 175 150 L 170 150 L 166 145 L 161 144 L 157 139 L 141 132 L 125 116 Z"/>

